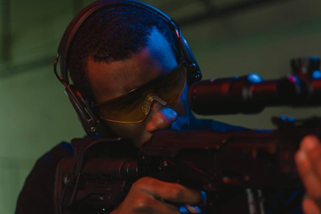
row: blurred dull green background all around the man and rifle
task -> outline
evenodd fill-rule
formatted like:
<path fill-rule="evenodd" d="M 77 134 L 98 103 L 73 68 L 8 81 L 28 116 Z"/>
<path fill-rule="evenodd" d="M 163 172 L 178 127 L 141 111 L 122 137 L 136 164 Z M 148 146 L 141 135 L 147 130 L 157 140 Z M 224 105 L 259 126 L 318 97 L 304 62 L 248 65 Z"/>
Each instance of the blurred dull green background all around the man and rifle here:
<path fill-rule="evenodd" d="M 35 161 L 84 132 L 53 73 L 64 30 L 91 0 L 0 0 L 0 214 L 14 213 Z M 320 0 L 146 0 L 182 27 L 203 79 L 291 72 L 290 59 L 321 56 Z M 267 108 L 210 118 L 273 128 L 271 116 L 304 118 L 321 109 Z M 202 117 L 202 116 L 198 116 Z"/>

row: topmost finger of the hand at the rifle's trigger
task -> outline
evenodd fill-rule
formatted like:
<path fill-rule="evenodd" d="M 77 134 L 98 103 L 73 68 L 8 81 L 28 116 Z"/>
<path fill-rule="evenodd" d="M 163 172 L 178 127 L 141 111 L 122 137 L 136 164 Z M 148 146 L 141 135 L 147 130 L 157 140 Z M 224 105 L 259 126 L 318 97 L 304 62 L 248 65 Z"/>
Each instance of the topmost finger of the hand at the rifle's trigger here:
<path fill-rule="evenodd" d="M 141 179 L 142 180 L 142 179 Z M 184 187 L 180 184 L 167 183 L 154 178 L 141 181 L 140 188 L 154 197 L 175 203 L 198 204 L 203 202 L 201 191 Z"/>

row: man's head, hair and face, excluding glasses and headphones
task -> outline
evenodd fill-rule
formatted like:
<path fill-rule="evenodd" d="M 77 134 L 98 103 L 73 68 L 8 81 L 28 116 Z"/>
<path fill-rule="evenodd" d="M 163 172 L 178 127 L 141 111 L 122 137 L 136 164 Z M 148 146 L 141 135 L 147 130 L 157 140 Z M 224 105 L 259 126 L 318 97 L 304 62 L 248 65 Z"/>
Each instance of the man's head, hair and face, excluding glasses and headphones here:
<path fill-rule="evenodd" d="M 75 35 L 68 60 L 74 85 L 96 103 L 119 97 L 177 66 L 174 32 L 154 13 L 114 6 L 94 13 Z M 172 107 L 153 101 L 140 123 L 104 121 L 139 147 L 154 131 L 189 125 L 187 86 Z"/>

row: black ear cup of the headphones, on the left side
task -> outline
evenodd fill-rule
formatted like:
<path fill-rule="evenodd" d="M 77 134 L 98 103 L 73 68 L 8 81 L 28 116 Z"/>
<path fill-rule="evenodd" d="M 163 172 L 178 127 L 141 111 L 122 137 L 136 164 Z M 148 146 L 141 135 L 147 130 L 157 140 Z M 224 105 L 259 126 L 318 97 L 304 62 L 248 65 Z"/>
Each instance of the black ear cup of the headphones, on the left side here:
<path fill-rule="evenodd" d="M 66 87 L 65 93 L 73 105 L 86 134 L 91 136 L 102 130 L 100 121 L 91 111 L 91 107 L 84 101 L 81 93 L 72 89 L 71 86 Z"/>

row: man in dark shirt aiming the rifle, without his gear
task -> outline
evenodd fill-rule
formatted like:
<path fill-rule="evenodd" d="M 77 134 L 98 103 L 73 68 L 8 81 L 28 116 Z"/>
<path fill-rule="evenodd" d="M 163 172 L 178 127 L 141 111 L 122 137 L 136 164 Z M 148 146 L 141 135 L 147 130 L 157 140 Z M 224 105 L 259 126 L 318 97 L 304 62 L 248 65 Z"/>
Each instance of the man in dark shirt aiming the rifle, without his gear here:
<path fill-rule="evenodd" d="M 148 114 L 145 117 L 134 111 L 135 102 L 145 97 L 127 97 L 121 101 L 128 91 L 152 90 L 150 82 L 164 74 L 178 73 L 174 75 L 177 79 L 169 79 L 168 84 L 176 85 L 175 81 L 181 80 L 179 72 L 184 73 L 185 68 L 181 66 L 173 34 L 167 23 L 149 11 L 134 6 L 113 6 L 103 8 L 87 19 L 72 44 L 68 68 L 76 89 L 97 104 L 97 113 L 110 135 L 131 138 L 138 148 L 158 130 L 240 129 L 195 119 L 187 103 L 187 84 L 183 84 L 170 106 L 147 93 L 149 97 L 145 97 L 150 98 L 150 102 L 146 102 Z M 162 85 L 163 89 L 166 87 Z M 114 100 L 118 102 L 116 107 L 112 103 Z M 128 123 L 119 119 L 122 115 L 110 114 L 106 110 L 110 107 L 127 109 L 129 116 L 140 119 Z M 53 212 L 56 164 L 71 155 L 70 145 L 62 143 L 37 161 L 20 193 L 16 213 Z M 199 191 L 145 177 L 134 183 L 113 213 L 179 213 L 175 203 L 186 204 L 187 210 L 198 213 L 192 205 L 202 201 Z"/>

